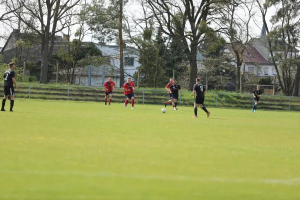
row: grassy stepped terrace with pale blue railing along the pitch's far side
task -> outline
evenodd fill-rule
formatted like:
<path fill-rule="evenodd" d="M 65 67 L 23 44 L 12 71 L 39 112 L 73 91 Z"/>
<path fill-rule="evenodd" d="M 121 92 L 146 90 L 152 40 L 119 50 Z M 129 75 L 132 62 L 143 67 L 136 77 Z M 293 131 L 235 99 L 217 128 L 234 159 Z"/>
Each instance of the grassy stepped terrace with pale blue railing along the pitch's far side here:
<path fill-rule="evenodd" d="M 0 83 L 3 86 L 3 83 Z M 104 102 L 103 87 L 72 86 L 72 85 L 43 85 L 43 84 L 18 84 L 15 91 L 17 98 L 78 100 Z M 166 90 L 135 89 L 135 102 L 137 104 L 160 104 L 169 100 Z M 113 102 L 124 102 L 123 90 L 117 88 L 113 92 Z M 194 99 L 192 92 L 180 91 L 179 105 L 192 106 Z M 252 94 L 213 93 L 205 94 L 204 105 L 207 107 L 230 107 L 251 109 L 254 103 Z M 272 110 L 300 111 L 300 97 L 262 95 L 258 108 Z"/>

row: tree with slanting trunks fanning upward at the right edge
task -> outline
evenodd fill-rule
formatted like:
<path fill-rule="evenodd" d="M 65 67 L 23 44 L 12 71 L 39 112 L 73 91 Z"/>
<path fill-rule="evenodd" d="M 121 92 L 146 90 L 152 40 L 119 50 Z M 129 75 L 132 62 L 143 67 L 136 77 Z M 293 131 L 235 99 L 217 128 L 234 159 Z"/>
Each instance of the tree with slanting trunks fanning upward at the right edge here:
<path fill-rule="evenodd" d="M 266 30 L 266 44 L 275 67 L 279 86 L 285 95 L 298 95 L 300 82 L 299 42 L 300 2 L 295 0 L 255 0 Z M 268 8 L 278 5 L 271 17 L 274 28 L 266 22 Z M 296 72 L 295 72 L 296 71 Z M 293 93 L 294 90 L 294 93 Z"/>

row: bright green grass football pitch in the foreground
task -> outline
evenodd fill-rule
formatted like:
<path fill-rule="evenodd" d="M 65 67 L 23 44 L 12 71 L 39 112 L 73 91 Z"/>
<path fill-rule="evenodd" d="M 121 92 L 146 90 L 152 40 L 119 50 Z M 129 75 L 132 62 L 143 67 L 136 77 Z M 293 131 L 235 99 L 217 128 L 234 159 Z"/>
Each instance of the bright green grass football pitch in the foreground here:
<path fill-rule="evenodd" d="M 0 199 L 300 199 L 300 112 L 162 107 L 16 99 Z"/>

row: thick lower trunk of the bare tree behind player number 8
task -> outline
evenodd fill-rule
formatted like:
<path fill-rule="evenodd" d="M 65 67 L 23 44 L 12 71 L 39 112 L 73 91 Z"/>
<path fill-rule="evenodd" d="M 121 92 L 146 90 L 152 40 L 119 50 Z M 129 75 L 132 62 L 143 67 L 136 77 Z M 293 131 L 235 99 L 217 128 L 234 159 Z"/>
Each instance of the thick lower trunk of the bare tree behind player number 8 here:
<path fill-rule="evenodd" d="M 188 88 L 190 91 L 193 89 L 193 85 L 195 84 L 195 80 L 198 76 L 198 69 L 197 69 L 197 46 L 191 44 L 190 45 L 190 53 L 189 53 L 189 84 Z"/>

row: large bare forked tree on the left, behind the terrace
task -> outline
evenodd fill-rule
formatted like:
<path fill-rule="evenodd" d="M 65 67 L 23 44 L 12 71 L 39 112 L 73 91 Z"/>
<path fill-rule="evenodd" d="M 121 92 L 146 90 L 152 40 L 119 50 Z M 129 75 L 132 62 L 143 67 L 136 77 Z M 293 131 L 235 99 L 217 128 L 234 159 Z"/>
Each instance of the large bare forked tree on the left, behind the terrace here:
<path fill-rule="evenodd" d="M 9 8 L 15 17 L 18 17 L 23 23 L 32 28 L 39 36 L 39 43 L 41 44 L 41 69 L 40 79 L 41 83 L 47 82 L 48 61 L 52 55 L 55 34 L 66 27 L 61 24 L 57 28 L 57 22 L 69 14 L 67 11 L 76 6 L 80 0 L 7 0 L 6 6 Z M 24 10 L 18 14 L 14 10 L 17 6 L 22 6 Z M 40 25 L 35 27 L 28 22 L 28 17 L 34 16 Z"/>

